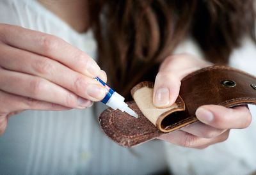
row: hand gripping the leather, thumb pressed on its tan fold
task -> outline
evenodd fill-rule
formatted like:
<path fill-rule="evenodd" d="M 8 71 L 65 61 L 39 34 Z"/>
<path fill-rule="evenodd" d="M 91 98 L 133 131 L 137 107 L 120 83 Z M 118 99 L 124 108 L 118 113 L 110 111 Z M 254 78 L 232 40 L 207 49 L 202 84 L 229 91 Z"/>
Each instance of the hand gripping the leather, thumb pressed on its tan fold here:
<path fill-rule="evenodd" d="M 172 105 L 179 95 L 180 80 L 207 66 L 211 64 L 188 54 L 167 57 L 156 76 L 154 105 Z M 159 139 L 179 146 L 203 149 L 225 141 L 230 129 L 246 128 L 252 121 L 250 110 L 246 106 L 229 109 L 220 105 L 203 105 L 196 110 L 196 117 L 200 122 L 162 135 Z"/>

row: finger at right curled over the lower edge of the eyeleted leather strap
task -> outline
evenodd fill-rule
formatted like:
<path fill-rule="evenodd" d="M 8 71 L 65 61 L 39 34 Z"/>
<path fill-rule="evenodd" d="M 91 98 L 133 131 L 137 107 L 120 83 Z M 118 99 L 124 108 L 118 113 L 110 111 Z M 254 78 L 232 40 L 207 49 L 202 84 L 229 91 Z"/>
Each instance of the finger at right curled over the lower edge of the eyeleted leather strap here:
<path fill-rule="evenodd" d="M 202 123 L 220 129 L 246 128 L 252 121 L 252 115 L 246 106 L 227 108 L 204 105 L 196 110 L 196 117 Z"/>

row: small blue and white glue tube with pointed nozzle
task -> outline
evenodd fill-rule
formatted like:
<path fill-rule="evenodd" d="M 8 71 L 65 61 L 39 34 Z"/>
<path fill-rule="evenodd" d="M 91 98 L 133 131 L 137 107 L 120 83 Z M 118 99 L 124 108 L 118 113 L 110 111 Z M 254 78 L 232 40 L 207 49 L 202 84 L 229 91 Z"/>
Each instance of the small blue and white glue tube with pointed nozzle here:
<path fill-rule="evenodd" d="M 127 103 L 124 102 L 124 97 L 120 94 L 116 93 L 113 89 L 111 89 L 108 84 L 102 81 L 99 77 L 95 77 L 95 80 L 100 82 L 106 91 L 106 96 L 101 100 L 102 103 L 108 105 L 112 109 L 119 109 L 122 112 L 127 112 L 134 118 L 138 118 L 138 114 L 134 112 L 131 108 L 128 107 Z"/>

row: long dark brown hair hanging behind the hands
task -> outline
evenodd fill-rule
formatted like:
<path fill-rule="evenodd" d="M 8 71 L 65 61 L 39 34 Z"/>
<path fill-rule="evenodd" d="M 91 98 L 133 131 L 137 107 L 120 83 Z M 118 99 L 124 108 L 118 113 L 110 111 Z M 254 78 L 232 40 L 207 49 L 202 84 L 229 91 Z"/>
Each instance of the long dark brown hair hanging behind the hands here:
<path fill-rule="evenodd" d="M 99 65 L 125 96 L 141 80 L 154 81 L 160 63 L 187 36 L 212 63 L 228 63 L 244 35 L 255 42 L 253 0 L 89 2 Z"/>

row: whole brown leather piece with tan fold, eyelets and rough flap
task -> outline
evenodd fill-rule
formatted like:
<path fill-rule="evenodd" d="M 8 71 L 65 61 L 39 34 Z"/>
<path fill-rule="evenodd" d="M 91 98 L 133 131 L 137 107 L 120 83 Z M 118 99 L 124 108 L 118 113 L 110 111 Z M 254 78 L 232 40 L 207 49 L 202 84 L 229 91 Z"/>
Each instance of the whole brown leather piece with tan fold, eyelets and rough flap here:
<path fill-rule="evenodd" d="M 134 101 L 127 103 L 138 119 L 110 108 L 100 114 L 103 132 L 120 146 L 129 148 L 195 123 L 201 105 L 256 105 L 256 77 L 228 66 L 209 66 L 184 77 L 176 102 L 168 108 L 154 107 L 153 88 L 153 82 L 141 82 L 131 89 Z"/>

